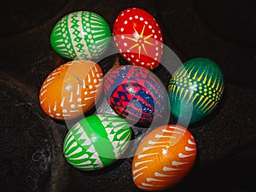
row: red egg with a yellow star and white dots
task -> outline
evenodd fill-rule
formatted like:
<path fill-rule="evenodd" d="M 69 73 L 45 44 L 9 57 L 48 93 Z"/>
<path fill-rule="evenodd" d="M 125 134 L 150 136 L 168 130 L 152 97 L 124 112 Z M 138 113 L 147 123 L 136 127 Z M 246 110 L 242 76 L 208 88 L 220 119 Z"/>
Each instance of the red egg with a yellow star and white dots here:
<path fill-rule="evenodd" d="M 113 39 L 125 61 L 150 70 L 158 67 L 163 53 L 163 34 L 147 11 L 123 10 L 113 24 Z"/>

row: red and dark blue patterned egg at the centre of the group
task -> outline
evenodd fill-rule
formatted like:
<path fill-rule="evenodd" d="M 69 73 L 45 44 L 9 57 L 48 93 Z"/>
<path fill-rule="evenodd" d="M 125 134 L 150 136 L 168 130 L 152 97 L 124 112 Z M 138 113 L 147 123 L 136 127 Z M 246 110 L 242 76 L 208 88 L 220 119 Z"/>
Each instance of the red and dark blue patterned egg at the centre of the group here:
<path fill-rule="evenodd" d="M 166 88 L 144 67 L 113 68 L 104 78 L 104 93 L 113 111 L 130 123 L 150 124 L 169 110 Z"/>

